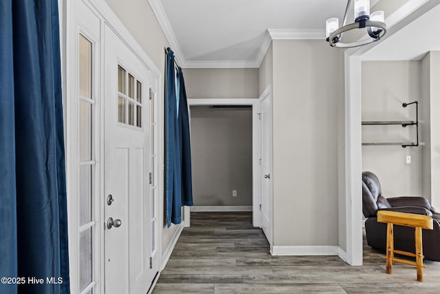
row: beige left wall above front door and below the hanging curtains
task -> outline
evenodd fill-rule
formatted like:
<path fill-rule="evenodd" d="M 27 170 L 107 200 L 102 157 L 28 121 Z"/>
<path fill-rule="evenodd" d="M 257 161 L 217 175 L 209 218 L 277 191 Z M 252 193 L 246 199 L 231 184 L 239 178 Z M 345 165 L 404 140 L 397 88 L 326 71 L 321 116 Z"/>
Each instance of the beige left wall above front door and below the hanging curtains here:
<path fill-rule="evenodd" d="M 165 76 L 165 51 L 169 47 L 166 36 L 157 21 L 150 4 L 146 0 L 106 0 L 111 10 L 124 23 L 124 26 L 135 37 L 137 43 L 140 43 L 146 54 L 154 61 L 155 65 L 162 71 L 162 77 Z M 164 80 L 162 80 L 164 85 Z M 162 92 L 163 93 L 163 92 Z M 164 99 L 164 97 L 159 97 Z M 161 117 L 164 117 L 163 114 Z M 163 160 L 163 158 L 162 158 Z M 162 250 L 164 251 L 170 244 L 175 235 L 177 226 L 166 226 L 164 222 L 162 227 Z M 161 257 L 162 258 L 162 257 Z"/>

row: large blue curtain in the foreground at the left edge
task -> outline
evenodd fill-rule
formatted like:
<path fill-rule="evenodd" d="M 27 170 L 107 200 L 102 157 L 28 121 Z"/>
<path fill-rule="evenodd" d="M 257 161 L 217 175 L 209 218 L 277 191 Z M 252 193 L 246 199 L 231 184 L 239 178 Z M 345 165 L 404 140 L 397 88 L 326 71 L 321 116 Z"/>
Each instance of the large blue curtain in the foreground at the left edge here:
<path fill-rule="evenodd" d="M 70 292 L 58 25 L 57 0 L 0 1 L 2 294 Z"/>

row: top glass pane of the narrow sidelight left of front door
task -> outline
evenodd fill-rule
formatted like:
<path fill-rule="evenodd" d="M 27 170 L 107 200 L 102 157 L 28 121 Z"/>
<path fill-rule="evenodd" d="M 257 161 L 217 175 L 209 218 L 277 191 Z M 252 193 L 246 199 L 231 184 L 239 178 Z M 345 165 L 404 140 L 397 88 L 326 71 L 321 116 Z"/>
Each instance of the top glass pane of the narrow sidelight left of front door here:
<path fill-rule="evenodd" d="M 79 36 L 79 87 L 80 96 L 91 98 L 91 42 Z"/>

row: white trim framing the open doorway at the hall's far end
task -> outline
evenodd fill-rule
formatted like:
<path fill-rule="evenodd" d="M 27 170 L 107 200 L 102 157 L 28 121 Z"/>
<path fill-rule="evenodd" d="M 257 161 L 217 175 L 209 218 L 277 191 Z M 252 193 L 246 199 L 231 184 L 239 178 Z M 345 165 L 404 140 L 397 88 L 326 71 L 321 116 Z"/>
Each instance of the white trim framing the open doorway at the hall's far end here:
<path fill-rule="evenodd" d="M 259 98 L 189 98 L 188 107 L 195 105 L 252 105 L 252 225 L 260 227 L 259 188 Z M 185 219 L 190 217 L 189 207 L 184 207 Z"/>

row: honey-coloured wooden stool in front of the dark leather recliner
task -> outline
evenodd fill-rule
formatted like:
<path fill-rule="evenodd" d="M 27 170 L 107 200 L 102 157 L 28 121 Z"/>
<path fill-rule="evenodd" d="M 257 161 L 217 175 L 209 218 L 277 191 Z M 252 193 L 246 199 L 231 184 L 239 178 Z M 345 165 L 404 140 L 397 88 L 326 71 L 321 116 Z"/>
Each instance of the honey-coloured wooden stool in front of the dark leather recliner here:
<path fill-rule="evenodd" d="M 423 282 L 423 246 L 421 244 L 421 229 L 432 230 L 432 218 L 413 213 L 395 211 L 377 211 L 377 222 L 386 222 L 386 273 L 391 274 L 393 262 L 417 266 L 417 281 Z M 393 224 L 415 228 L 415 254 L 394 250 Z M 415 262 L 394 258 L 394 253 L 411 256 Z"/>

